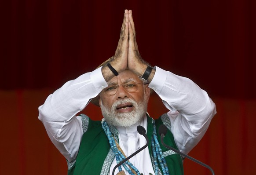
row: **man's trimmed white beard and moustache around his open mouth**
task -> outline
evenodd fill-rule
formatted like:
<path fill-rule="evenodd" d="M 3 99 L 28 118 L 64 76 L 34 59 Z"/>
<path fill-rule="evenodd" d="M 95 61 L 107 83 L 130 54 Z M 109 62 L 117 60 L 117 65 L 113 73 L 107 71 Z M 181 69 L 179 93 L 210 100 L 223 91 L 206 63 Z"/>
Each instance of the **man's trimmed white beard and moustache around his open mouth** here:
<path fill-rule="evenodd" d="M 126 102 L 131 102 L 134 106 L 132 112 L 127 113 L 117 113 L 116 108 L 118 105 L 124 104 Z M 125 98 L 114 102 L 111 109 L 106 106 L 101 106 L 102 115 L 105 118 L 106 122 L 113 126 L 128 127 L 134 124 L 138 124 L 146 114 L 147 102 L 143 98 L 142 102 L 135 102 L 130 98 Z"/>

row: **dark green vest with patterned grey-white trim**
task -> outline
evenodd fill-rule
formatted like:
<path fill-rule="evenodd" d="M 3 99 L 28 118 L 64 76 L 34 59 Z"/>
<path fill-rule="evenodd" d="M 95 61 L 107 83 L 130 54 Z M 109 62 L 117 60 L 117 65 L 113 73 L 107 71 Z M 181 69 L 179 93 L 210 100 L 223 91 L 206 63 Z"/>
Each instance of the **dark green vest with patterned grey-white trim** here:
<path fill-rule="evenodd" d="M 84 134 L 82 136 L 82 141 L 80 143 L 80 149 L 76 160 L 71 163 L 68 162 L 68 175 L 108 175 L 110 165 L 115 157 L 113 151 L 110 149 L 109 140 L 102 129 L 101 121 L 91 120 L 84 114 L 81 114 L 80 116 L 82 117 Z M 153 135 L 153 119 L 149 116 L 147 116 L 147 123 L 146 135 L 149 139 L 148 149 L 150 152 L 150 157 L 152 157 L 151 138 Z M 169 130 L 165 135 L 164 142 L 168 146 L 172 146 L 173 148 L 177 149 L 173 135 L 170 131 L 171 123 L 167 114 L 163 114 L 161 119 L 155 120 L 155 123 L 157 132 L 161 124 L 165 124 L 167 126 Z M 113 136 L 118 141 L 117 129 L 113 126 L 109 127 Z M 165 160 L 168 164 L 169 174 L 183 175 L 182 157 L 172 150 L 162 146 L 161 137 L 158 133 L 157 137 L 161 145 L 162 152 L 165 156 Z M 152 165 L 155 169 L 154 163 Z M 159 164 L 158 167 L 161 170 L 161 166 Z"/>

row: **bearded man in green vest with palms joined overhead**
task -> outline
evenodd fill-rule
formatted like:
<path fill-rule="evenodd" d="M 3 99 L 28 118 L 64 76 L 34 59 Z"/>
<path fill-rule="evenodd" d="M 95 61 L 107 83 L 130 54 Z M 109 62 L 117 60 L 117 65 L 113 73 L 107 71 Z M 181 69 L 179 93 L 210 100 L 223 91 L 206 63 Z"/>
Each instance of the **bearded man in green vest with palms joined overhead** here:
<path fill-rule="evenodd" d="M 157 120 L 146 112 L 153 90 L 169 109 Z M 76 116 L 90 101 L 100 106 L 102 121 Z M 111 175 L 118 162 L 146 144 L 138 125 L 146 129 L 150 144 L 114 174 L 182 175 L 183 159 L 161 145 L 159 126 L 169 129 L 165 142 L 187 154 L 215 114 L 215 104 L 193 81 L 157 66 L 152 69 L 140 57 L 131 10 L 124 12 L 115 55 L 68 81 L 39 107 L 39 119 L 66 157 L 69 175 Z"/>

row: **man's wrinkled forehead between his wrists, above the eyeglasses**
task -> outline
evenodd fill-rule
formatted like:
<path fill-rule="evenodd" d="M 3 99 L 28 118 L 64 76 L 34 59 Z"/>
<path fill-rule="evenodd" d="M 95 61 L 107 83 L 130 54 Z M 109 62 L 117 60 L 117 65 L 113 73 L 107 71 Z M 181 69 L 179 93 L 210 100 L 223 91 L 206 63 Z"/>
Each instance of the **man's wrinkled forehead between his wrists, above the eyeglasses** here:
<path fill-rule="evenodd" d="M 120 84 L 120 83 L 127 83 L 129 81 L 135 81 L 137 83 L 142 82 L 139 79 L 139 76 L 133 73 L 131 70 L 124 70 L 123 72 L 119 73 L 117 77 L 113 77 L 108 84 Z"/>

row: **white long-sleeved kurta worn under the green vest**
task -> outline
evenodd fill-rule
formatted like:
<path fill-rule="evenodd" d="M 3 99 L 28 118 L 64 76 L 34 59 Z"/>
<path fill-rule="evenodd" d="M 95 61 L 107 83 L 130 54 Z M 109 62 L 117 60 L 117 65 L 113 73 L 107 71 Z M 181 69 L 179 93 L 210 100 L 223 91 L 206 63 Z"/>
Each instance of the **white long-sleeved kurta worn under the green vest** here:
<path fill-rule="evenodd" d="M 154 69 L 156 72 L 149 87 L 160 96 L 169 109 L 168 117 L 176 145 L 181 152 L 187 154 L 205 134 L 212 117 L 216 114 L 215 104 L 208 94 L 190 79 L 177 76 L 157 66 Z M 76 158 L 83 134 L 81 117 L 76 114 L 105 87 L 107 83 L 100 67 L 68 81 L 49 95 L 39 107 L 39 119 L 43 122 L 51 141 L 69 162 Z M 128 155 L 145 145 L 146 140 L 143 141 L 141 138 L 143 136 L 128 132 L 127 129 L 119 128 L 119 130 L 120 146 Z M 136 164 L 141 162 L 142 158 L 151 164 L 148 151 L 144 151 L 131 161 Z M 150 164 L 147 164 L 146 167 L 149 168 L 145 169 L 146 172 L 152 171 Z M 114 166 L 113 162 L 112 167 Z M 142 168 L 144 169 L 145 166 L 143 165 Z"/>

